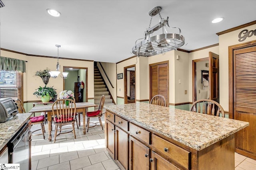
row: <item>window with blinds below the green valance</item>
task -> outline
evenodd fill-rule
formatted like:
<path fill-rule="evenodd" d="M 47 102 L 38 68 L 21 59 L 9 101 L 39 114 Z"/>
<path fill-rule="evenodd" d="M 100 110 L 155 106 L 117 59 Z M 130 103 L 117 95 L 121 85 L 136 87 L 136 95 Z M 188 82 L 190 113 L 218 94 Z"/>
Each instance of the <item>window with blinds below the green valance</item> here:
<path fill-rule="evenodd" d="M 0 98 L 22 98 L 22 72 L 0 71 Z"/>

